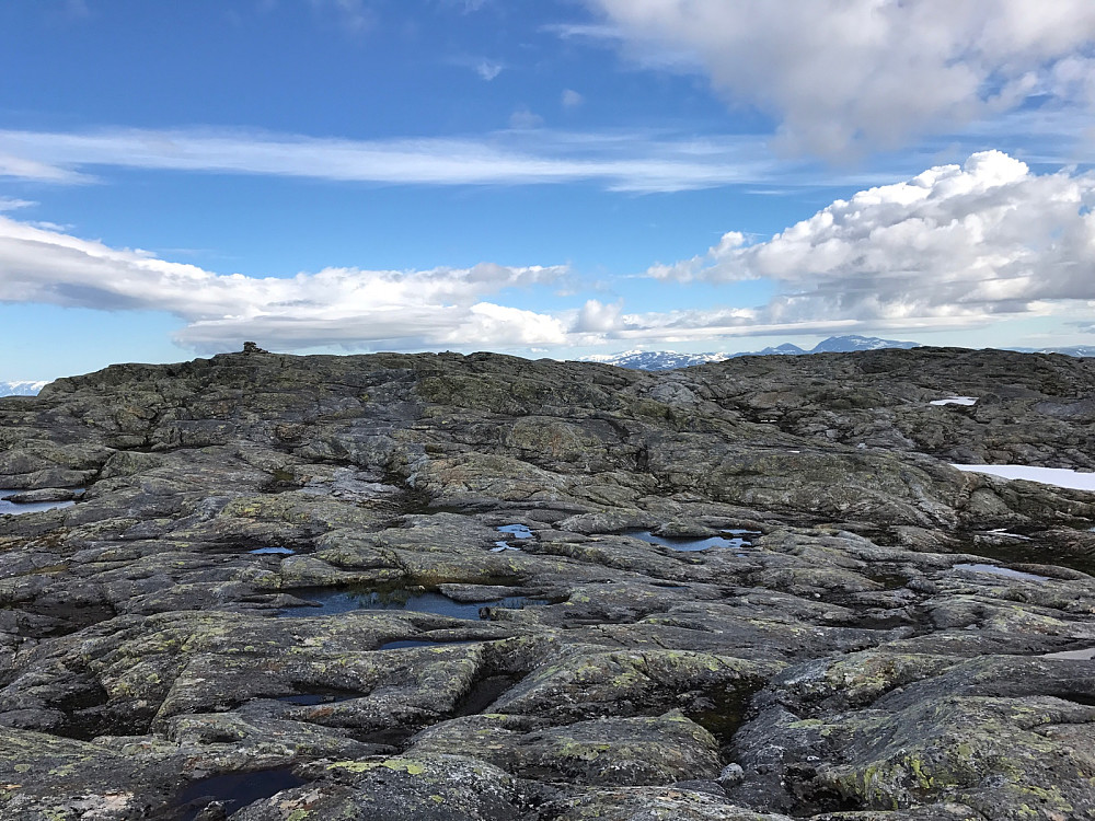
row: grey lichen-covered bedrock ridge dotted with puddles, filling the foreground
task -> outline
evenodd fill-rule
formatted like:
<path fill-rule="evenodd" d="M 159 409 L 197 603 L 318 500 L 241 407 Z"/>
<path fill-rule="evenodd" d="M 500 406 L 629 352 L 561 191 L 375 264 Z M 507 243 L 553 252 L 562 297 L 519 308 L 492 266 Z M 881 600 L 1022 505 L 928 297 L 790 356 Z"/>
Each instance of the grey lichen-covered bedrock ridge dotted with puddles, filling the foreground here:
<path fill-rule="evenodd" d="M 920 348 L 2 398 L 0 818 L 1095 819 L 1095 494 L 948 464 L 1095 469 L 1093 397 Z"/>

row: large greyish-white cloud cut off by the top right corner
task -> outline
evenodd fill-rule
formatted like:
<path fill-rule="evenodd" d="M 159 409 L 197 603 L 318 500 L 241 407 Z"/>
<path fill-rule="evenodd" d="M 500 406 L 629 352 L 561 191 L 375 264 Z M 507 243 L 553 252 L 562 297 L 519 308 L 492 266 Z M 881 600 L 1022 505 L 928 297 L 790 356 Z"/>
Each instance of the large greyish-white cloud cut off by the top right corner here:
<path fill-rule="evenodd" d="M 587 2 L 612 23 L 602 36 L 644 63 L 652 51 L 691 55 L 731 101 L 776 116 L 789 146 L 830 157 L 1036 95 L 1095 103 L 1091 0 Z"/>

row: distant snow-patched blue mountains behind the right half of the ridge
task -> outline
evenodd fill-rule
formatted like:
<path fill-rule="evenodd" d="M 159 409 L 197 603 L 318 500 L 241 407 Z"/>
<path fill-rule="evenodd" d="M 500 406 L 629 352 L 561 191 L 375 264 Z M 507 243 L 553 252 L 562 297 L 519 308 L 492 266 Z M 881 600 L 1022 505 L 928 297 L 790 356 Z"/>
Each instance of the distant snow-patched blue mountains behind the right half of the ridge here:
<path fill-rule="evenodd" d="M 819 342 L 809 350 L 797 345 L 784 343 L 763 350 L 749 350 L 738 354 L 678 354 L 673 350 L 627 350 L 623 354 L 585 357 L 584 361 L 615 365 L 620 368 L 631 368 L 644 371 L 668 371 L 676 368 L 688 368 L 704 362 L 722 362 L 737 357 L 759 356 L 806 356 L 809 354 L 852 354 L 857 350 L 879 350 L 881 348 L 920 348 L 920 343 L 900 342 L 898 339 L 879 339 L 877 336 L 830 336 Z M 1011 348 L 1024 354 L 1064 354 L 1070 357 L 1095 357 L 1095 346 L 1073 345 L 1064 348 Z"/>

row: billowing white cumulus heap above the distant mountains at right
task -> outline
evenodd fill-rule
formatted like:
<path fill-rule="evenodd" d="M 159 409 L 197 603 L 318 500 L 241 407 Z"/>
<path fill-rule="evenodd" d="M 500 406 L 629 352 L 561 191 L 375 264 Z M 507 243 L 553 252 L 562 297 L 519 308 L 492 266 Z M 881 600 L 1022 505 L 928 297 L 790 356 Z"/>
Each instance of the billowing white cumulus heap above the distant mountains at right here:
<path fill-rule="evenodd" d="M 728 233 L 648 274 L 766 279 L 760 323 L 915 324 L 1033 314 L 1095 299 L 1095 176 L 1031 173 L 999 151 L 837 200 L 766 242 Z"/>

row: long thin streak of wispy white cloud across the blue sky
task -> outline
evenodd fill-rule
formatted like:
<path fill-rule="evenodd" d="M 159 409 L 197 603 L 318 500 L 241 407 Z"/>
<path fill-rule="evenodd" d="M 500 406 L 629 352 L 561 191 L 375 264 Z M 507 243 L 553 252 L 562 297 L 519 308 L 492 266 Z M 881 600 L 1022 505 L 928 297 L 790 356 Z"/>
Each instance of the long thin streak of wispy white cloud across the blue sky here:
<path fill-rule="evenodd" d="M 0 176 L 89 182 L 88 167 L 311 177 L 395 185 L 517 185 L 593 181 L 614 190 L 673 192 L 797 175 L 753 137 L 649 131 L 575 134 L 515 128 L 477 139 L 343 140 L 229 130 L 0 130 Z M 892 177 L 890 177 L 892 178 Z"/>

